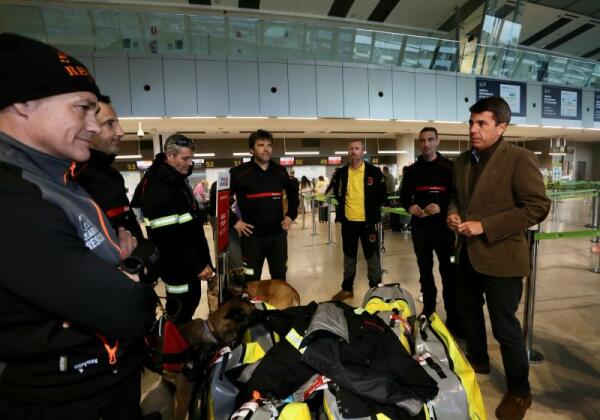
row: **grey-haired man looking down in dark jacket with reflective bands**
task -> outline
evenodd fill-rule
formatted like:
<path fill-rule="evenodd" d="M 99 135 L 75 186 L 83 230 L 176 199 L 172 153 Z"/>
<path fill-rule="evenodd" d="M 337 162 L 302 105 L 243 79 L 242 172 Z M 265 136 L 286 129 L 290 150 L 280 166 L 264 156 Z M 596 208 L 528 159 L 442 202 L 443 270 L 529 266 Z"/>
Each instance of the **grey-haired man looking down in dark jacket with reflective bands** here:
<path fill-rule="evenodd" d="M 156 155 L 135 190 L 132 205 L 141 208 L 149 238 L 161 256 L 167 313 L 177 322 L 192 319 L 200 303 L 200 280 L 213 277 L 200 206 L 188 183 L 194 143 L 173 134 Z"/>

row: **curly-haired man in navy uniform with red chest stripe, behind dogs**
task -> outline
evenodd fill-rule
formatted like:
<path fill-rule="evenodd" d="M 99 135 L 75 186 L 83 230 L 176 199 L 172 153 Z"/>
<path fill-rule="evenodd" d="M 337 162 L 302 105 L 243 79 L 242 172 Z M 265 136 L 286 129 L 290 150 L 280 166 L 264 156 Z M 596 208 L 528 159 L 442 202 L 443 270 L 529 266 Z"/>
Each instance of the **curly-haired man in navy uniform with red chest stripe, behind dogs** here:
<path fill-rule="evenodd" d="M 271 133 L 258 130 L 250 134 L 248 147 L 252 160 L 230 170 L 231 193 L 241 214 L 237 220 L 233 217 L 241 236 L 244 274 L 247 281 L 260 280 L 266 258 L 271 278 L 285 280 L 287 231 L 298 216 L 298 182 L 271 160 Z"/>

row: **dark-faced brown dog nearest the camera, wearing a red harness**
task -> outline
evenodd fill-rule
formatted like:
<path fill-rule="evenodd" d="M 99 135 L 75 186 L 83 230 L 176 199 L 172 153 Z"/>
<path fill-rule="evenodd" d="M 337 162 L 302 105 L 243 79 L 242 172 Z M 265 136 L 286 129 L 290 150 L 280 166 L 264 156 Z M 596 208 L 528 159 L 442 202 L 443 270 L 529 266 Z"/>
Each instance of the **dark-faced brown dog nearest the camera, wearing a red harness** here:
<path fill-rule="evenodd" d="M 239 343 L 246 329 L 260 319 L 261 311 L 248 300 L 234 297 L 223 303 L 208 319 L 193 319 L 177 325 L 177 329 L 190 345 L 183 372 L 163 371 L 163 380 L 175 385 L 173 420 L 184 420 L 192 397 L 194 380 L 203 380 L 208 363 L 215 352 L 224 346 Z"/>

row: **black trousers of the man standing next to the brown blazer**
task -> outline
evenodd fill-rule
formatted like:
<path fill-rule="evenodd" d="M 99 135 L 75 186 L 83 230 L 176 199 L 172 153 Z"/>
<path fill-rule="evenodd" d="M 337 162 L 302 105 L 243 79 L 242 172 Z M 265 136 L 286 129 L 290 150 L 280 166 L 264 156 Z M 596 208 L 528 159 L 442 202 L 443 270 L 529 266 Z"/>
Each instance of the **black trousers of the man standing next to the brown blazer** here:
<path fill-rule="evenodd" d="M 417 265 L 419 266 L 419 282 L 423 293 L 423 310 L 435 311 L 437 288 L 433 279 L 433 253 L 437 255 L 440 276 L 442 277 L 444 308 L 446 323 L 453 328 L 458 322 L 456 309 L 456 284 L 454 281 L 454 264 L 450 257 L 454 253 L 454 232 L 446 227 L 424 228 L 412 226 L 412 241 Z"/>

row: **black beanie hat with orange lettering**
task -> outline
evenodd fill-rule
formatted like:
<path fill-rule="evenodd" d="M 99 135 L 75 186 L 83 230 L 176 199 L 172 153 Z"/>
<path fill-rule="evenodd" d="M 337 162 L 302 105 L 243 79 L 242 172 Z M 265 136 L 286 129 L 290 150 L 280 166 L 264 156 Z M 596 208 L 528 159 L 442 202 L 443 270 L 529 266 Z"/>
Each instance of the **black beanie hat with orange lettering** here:
<path fill-rule="evenodd" d="M 0 109 L 71 92 L 100 95 L 94 78 L 81 62 L 43 42 L 0 34 Z"/>

